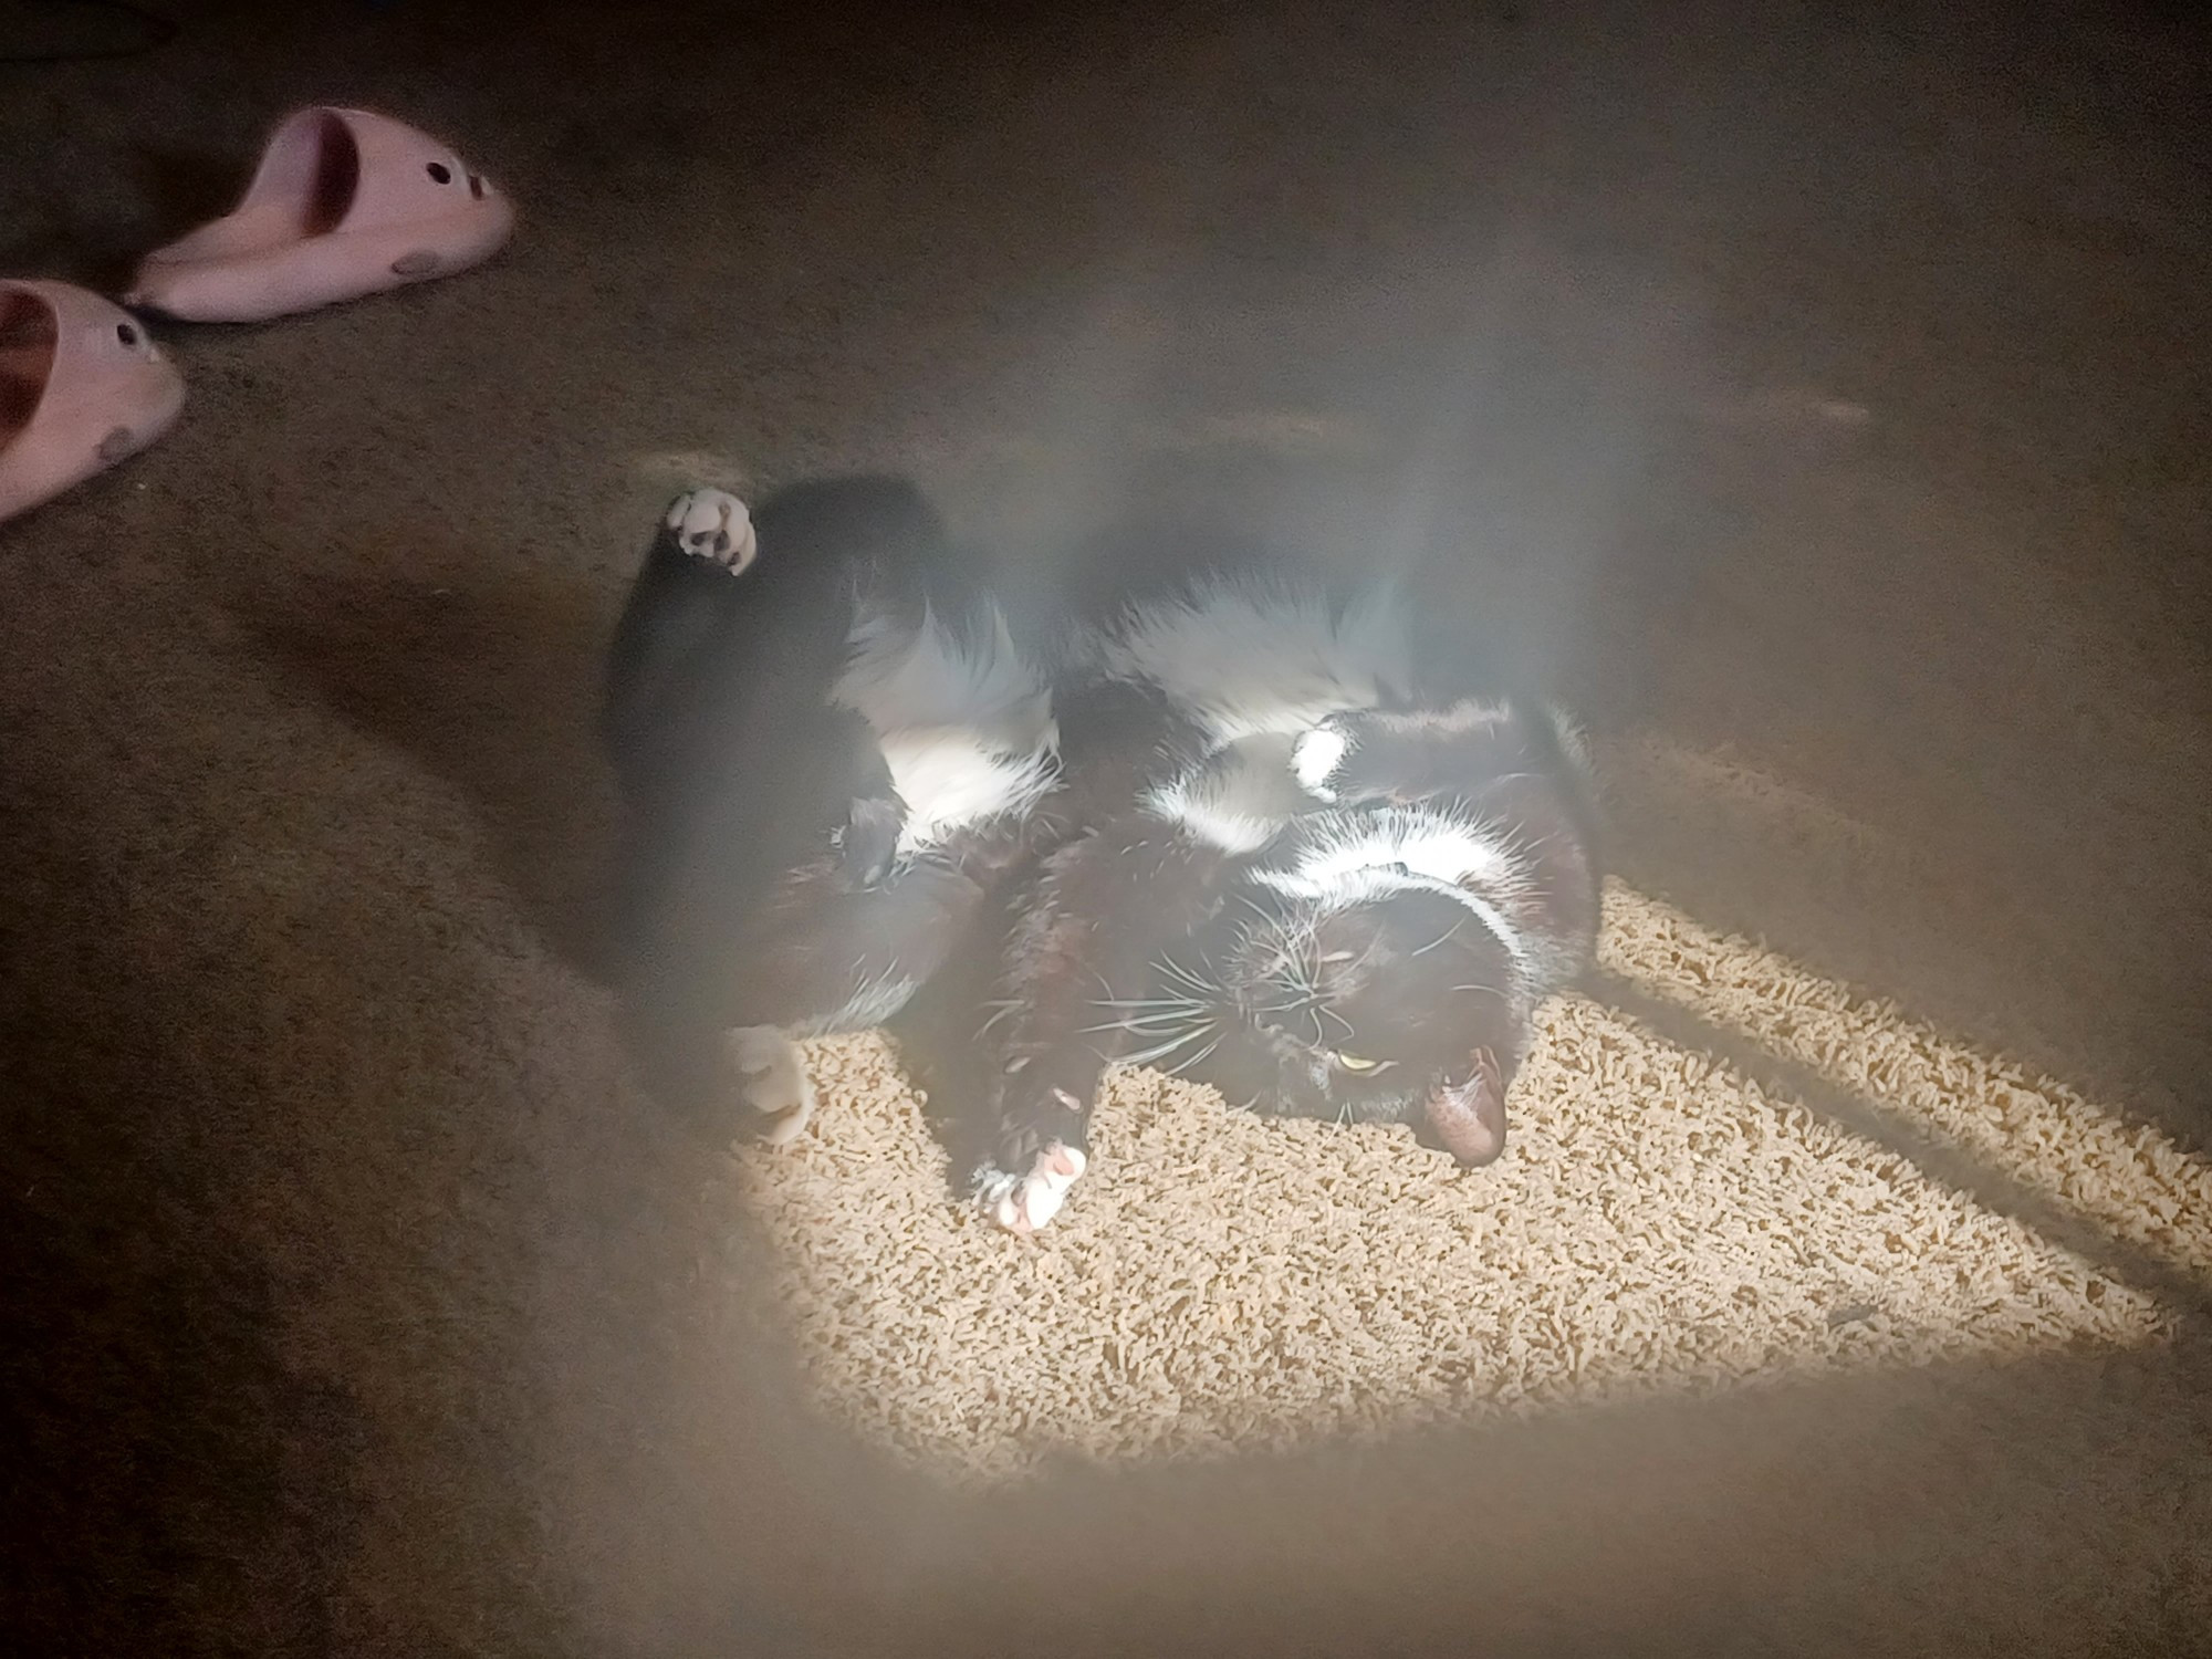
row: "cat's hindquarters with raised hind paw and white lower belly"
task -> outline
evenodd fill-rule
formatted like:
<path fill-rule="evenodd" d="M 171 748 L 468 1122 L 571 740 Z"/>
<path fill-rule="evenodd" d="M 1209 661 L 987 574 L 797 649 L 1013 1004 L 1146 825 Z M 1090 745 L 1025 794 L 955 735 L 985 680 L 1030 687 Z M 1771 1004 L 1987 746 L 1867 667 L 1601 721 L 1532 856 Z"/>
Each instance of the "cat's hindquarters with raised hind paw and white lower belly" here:
<path fill-rule="evenodd" d="M 794 1037 L 880 1024 L 1024 854 L 1044 670 L 905 480 L 748 513 L 679 495 L 630 588 L 602 732 L 628 805 L 619 973 L 664 1093 L 790 1139 Z M 750 1119 L 750 1121 L 748 1121 Z"/>

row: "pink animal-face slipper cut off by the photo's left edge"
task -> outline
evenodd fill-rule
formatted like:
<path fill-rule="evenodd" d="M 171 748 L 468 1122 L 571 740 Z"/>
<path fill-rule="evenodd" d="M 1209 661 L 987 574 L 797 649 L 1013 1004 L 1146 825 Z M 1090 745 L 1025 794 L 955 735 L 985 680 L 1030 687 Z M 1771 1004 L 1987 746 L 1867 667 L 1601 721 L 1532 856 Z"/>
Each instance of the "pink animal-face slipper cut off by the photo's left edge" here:
<path fill-rule="evenodd" d="M 135 456 L 181 407 L 184 376 L 131 312 L 0 281 L 0 518 Z"/>

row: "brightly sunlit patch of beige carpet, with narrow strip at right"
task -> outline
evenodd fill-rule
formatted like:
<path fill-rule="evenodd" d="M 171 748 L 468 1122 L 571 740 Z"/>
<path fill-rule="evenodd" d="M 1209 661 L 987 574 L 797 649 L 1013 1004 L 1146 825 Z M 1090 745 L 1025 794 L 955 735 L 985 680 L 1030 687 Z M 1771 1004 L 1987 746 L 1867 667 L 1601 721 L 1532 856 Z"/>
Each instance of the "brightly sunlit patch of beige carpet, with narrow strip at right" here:
<path fill-rule="evenodd" d="M 1604 962 L 2212 1274 L 2212 1166 L 2154 1130 L 1621 885 Z M 947 1203 L 883 1042 L 816 1044 L 814 1071 L 814 1128 L 739 1155 L 781 1307 L 825 1411 L 960 1478 L 2172 1332 L 2146 1290 L 1582 995 L 1486 1170 L 1121 1071 L 1035 1241 Z"/>

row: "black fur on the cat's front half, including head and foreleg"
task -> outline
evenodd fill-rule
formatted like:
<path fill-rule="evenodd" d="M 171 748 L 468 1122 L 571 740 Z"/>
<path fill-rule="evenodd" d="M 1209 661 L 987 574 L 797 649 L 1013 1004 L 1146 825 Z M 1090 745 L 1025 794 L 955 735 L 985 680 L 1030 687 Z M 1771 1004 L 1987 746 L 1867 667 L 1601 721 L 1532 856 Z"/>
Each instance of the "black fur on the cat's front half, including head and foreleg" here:
<path fill-rule="evenodd" d="M 1323 593 L 1281 566 L 1270 580 Z M 1113 633 L 1192 582 L 1186 571 L 1106 586 L 1088 628 Z M 1157 686 L 1086 668 L 1082 633 L 1057 688 L 1057 845 L 1009 927 L 989 1029 L 980 1197 L 1018 1190 L 1055 1146 L 1086 1150 L 1091 1102 L 1117 1060 L 1188 1071 L 1259 1110 L 1413 1119 L 1460 1161 L 1495 1157 L 1535 1004 L 1588 960 L 1597 927 L 1595 814 L 1557 723 L 1526 699 L 1469 697 L 1478 681 L 1458 659 L 1405 661 L 1371 706 L 1325 721 L 1349 748 L 1323 796 L 1287 774 L 1290 739 L 1221 750 Z M 1159 785 L 1201 776 L 1267 821 L 1265 845 L 1208 845 L 1161 810 Z M 1524 847 L 1506 931 L 1526 949 L 1451 894 L 1325 909 L 1267 883 L 1387 814 L 1482 821 Z M 1374 1053 L 1354 1055 L 1354 1042 Z M 1354 1060 L 1376 1064 L 1354 1073 Z"/>

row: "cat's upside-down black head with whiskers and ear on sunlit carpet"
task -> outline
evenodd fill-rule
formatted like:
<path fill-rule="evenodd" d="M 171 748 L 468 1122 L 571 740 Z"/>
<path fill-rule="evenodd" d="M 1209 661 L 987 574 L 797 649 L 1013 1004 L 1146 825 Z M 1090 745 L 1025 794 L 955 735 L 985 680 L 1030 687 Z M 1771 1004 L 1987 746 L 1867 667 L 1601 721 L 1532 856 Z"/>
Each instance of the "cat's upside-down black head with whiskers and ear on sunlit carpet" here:
<path fill-rule="evenodd" d="M 1413 1121 L 1462 1164 L 1504 1150 L 1528 1000 L 1511 951 L 1467 905 L 1422 887 L 1343 907 L 1261 898 L 1199 940 L 1188 967 L 1219 1022 L 1192 1073 L 1232 1104 Z"/>

